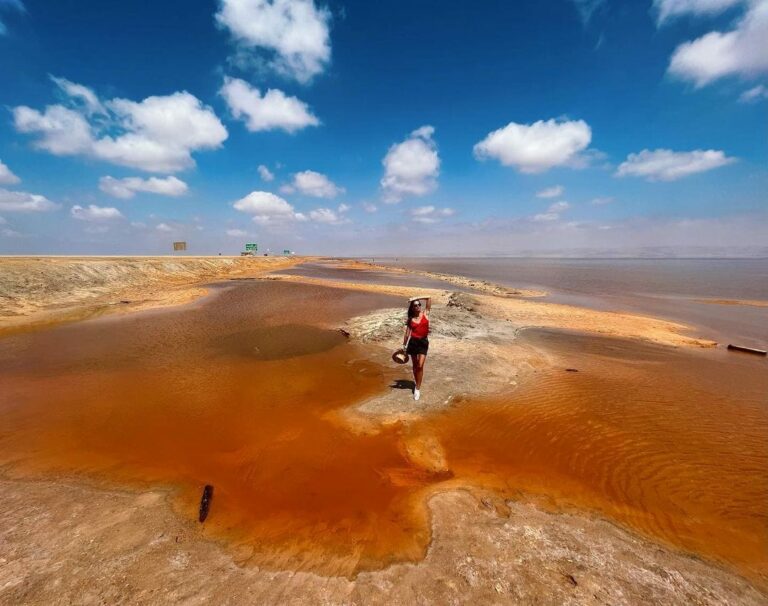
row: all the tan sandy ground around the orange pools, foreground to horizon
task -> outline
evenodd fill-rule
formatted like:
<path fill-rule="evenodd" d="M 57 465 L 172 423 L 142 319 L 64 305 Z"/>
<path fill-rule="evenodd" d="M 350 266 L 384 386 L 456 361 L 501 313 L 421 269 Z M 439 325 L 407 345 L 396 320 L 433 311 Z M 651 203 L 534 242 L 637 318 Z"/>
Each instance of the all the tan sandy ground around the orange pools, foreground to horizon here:
<path fill-rule="evenodd" d="M 228 278 L 322 285 L 408 297 L 413 289 L 262 274 L 298 259 L 0 259 L 0 334 L 188 302 Z M 382 271 L 379 266 L 346 267 Z M 398 270 L 402 271 L 402 270 Z M 428 273 L 428 272 L 426 272 Z M 418 406 L 387 390 L 338 415 L 352 431 L 376 432 L 456 405 L 455 396 L 514 389 L 551 366 L 518 342 L 530 327 L 558 328 L 679 348 L 712 347 L 681 324 L 535 299 L 541 293 L 429 274 L 472 293 L 422 291 L 441 322 L 430 338 L 430 390 Z M 162 294 L 160 294 L 162 291 Z M 131 303 L 120 304 L 120 300 Z M 117 305 L 110 305 L 118 303 Z M 341 327 L 381 357 L 402 334 L 402 309 L 379 309 Z M 477 339 L 486 353 L 476 355 Z M 490 360 L 490 363 L 488 362 Z M 439 443 L 415 435 L 409 459 L 446 468 Z M 432 541 L 423 561 L 353 577 L 260 569 L 248 546 L 222 544 L 182 519 L 169 492 L 114 491 L 80 482 L 0 480 L 0 603 L 764 604 L 768 597 L 719 566 L 660 546 L 607 521 L 551 513 L 447 483 L 429 493 Z"/>

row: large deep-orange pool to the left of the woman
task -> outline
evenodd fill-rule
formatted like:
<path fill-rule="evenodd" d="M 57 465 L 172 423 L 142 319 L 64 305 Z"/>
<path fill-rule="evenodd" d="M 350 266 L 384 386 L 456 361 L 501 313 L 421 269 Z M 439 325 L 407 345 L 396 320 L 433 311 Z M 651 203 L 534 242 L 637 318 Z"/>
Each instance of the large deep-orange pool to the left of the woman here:
<path fill-rule="evenodd" d="M 274 567 L 418 558 L 428 531 L 409 499 L 435 478 L 400 453 L 397 428 L 358 436 L 328 416 L 385 383 L 333 327 L 392 303 L 238 282 L 184 309 L 2 339 L 0 462 L 21 477 L 170 486 L 188 519 L 212 484 L 206 531 Z"/>

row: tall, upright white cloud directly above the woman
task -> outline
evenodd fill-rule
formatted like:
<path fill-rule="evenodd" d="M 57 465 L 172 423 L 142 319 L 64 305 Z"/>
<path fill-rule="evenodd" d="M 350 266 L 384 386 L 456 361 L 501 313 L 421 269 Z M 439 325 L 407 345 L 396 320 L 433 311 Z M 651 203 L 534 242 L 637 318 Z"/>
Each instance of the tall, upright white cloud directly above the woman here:
<path fill-rule="evenodd" d="M 440 157 L 432 126 L 422 126 L 389 148 L 384 156 L 381 187 L 384 201 L 399 202 L 404 196 L 424 196 L 437 188 Z"/>

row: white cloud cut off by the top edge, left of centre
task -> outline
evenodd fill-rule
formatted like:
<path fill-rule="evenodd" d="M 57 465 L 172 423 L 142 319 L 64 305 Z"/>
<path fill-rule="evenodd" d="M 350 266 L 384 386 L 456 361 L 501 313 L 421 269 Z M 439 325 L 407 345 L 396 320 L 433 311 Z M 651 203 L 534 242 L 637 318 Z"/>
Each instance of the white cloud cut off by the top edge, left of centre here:
<path fill-rule="evenodd" d="M 241 49 L 263 49 L 279 73 L 307 82 L 331 59 L 330 12 L 313 0 L 221 0 L 216 21 Z"/>

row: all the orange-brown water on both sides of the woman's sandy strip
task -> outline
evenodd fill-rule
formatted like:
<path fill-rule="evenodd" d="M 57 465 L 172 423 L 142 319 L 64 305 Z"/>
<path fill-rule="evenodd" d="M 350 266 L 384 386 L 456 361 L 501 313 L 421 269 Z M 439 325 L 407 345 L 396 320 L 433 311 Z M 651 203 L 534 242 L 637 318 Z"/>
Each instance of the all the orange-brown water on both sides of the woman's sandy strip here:
<path fill-rule="evenodd" d="M 445 478 L 408 460 L 404 428 L 358 435 L 332 414 L 392 374 L 333 326 L 399 303 L 244 282 L 182 309 L 2 339 L 2 470 L 170 486 L 191 519 L 213 484 L 205 532 L 260 565 L 353 574 L 418 559 L 423 497 Z M 459 402 L 409 435 L 437 436 L 466 484 L 595 511 L 768 574 L 763 361 L 524 338 L 562 367 L 507 396 Z"/>

